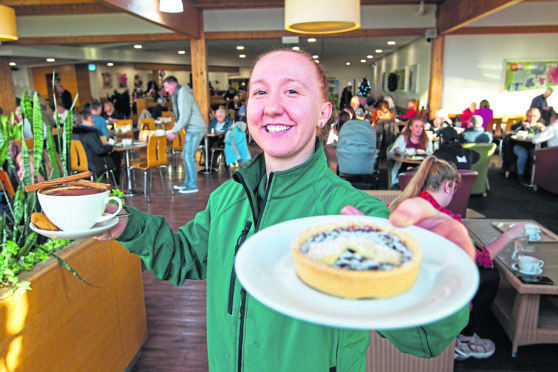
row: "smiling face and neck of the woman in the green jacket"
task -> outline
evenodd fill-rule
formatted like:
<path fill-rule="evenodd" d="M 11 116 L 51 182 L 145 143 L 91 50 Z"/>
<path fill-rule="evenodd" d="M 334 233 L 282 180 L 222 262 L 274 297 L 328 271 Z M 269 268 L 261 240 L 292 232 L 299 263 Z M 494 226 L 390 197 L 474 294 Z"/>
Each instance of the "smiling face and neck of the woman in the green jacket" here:
<path fill-rule="evenodd" d="M 250 78 L 247 121 L 269 171 L 302 164 L 314 153 L 318 125 L 331 115 L 313 63 L 296 52 L 261 58 Z"/>

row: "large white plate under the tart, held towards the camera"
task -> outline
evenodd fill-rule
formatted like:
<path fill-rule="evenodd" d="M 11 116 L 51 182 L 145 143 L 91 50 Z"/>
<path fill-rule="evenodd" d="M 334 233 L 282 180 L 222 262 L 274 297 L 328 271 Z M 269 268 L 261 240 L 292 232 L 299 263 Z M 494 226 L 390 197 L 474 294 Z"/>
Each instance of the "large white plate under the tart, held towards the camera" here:
<path fill-rule="evenodd" d="M 248 239 L 238 251 L 238 280 L 266 306 L 311 323 L 351 329 L 414 327 L 447 317 L 469 303 L 476 293 L 479 273 L 457 245 L 419 227 L 402 229 L 424 248 L 415 285 L 389 299 L 349 300 L 312 289 L 296 275 L 290 252 L 299 232 L 320 224 L 365 221 L 388 225 L 383 218 L 319 216 L 283 222 Z"/>

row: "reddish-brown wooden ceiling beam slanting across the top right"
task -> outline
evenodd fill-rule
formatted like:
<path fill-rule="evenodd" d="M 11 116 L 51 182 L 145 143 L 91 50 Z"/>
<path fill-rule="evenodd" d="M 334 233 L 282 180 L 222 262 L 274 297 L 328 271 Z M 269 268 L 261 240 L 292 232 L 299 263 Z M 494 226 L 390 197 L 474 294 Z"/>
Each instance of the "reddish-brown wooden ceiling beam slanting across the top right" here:
<path fill-rule="evenodd" d="M 490 14 L 497 13 L 523 0 L 446 0 L 438 6 L 438 33 L 448 34 Z"/>

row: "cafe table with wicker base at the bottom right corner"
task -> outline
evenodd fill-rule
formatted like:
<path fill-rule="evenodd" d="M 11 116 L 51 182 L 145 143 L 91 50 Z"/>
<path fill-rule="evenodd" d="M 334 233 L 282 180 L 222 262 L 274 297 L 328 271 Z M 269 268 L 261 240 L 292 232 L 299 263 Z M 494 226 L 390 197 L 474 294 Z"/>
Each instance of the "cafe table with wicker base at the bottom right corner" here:
<path fill-rule="evenodd" d="M 512 356 L 519 346 L 558 344 L 558 235 L 533 220 L 466 219 L 471 236 L 481 245 L 496 240 L 512 223 L 533 223 L 541 227 L 541 239 L 529 242 L 522 253 L 544 261 L 540 276 L 554 284 L 525 284 L 512 267 L 514 247 L 509 244 L 493 259 L 500 272 L 500 287 L 492 311 L 512 341 Z M 503 227 L 502 227 L 503 226 Z"/>

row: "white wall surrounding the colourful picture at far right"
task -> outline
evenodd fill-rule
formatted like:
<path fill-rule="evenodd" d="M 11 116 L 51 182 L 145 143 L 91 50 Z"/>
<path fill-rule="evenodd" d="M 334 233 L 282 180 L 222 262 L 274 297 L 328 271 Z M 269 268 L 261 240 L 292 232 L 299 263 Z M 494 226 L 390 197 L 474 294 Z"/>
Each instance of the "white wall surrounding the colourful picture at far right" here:
<path fill-rule="evenodd" d="M 544 89 L 504 90 L 505 63 L 558 60 L 558 34 L 447 36 L 444 50 L 442 107 L 462 112 L 487 99 L 495 116 L 523 115 Z M 558 94 L 548 99 L 558 106 Z"/>

